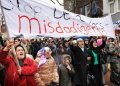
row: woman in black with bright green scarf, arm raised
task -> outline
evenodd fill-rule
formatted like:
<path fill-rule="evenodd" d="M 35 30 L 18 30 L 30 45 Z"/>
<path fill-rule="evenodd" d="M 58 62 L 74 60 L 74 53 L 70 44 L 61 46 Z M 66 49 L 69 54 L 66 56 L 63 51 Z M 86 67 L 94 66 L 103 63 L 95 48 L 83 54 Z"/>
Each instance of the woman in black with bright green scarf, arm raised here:
<path fill-rule="evenodd" d="M 102 63 L 101 63 L 101 49 L 105 47 L 105 41 L 102 40 L 102 45 L 98 46 L 97 40 L 94 39 L 90 42 L 90 71 L 95 77 L 94 86 L 104 86 L 102 84 Z"/>

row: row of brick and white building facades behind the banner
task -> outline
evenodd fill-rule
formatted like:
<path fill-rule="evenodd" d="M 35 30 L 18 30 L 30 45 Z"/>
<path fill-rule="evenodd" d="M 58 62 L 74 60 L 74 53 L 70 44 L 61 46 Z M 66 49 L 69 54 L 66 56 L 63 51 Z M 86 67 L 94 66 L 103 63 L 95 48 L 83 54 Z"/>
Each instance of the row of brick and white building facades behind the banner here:
<path fill-rule="evenodd" d="M 64 9 L 88 17 L 111 14 L 115 34 L 120 39 L 120 0 L 64 0 L 64 4 Z"/>

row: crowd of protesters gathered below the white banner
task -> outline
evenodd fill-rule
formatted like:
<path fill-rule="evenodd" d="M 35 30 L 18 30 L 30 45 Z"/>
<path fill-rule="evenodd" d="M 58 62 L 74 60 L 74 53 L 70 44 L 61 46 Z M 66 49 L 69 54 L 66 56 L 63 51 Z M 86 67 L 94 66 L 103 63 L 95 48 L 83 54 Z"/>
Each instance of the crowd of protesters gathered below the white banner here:
<path fill-rule="evenodd" d="M 107 86 L 108 63 L 111 82 L 120 84 L 120 47 L 114 38 L 0 37 L 1 86 Z"/>

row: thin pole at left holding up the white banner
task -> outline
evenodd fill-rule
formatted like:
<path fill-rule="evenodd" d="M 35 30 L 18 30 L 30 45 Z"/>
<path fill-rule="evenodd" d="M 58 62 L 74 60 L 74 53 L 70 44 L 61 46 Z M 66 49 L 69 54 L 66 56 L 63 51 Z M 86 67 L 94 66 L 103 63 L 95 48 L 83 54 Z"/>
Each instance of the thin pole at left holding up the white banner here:
<path fill-rule="evenodd" d="M 5 26 L 6 26 L 7 33 L 8 33 L 8 27 L 7 27 L 7 23 L 6 23 L 4 11 L 3 11 L 3 8 L 2 8 L 2 2 L 1 2 L 1 0 L 0 0 L 0 7 L 1 7 L 1 12 L 2 12 L 2 14 L 3 14 L 3 18 L 4 18 L 4 20 L 5 20 Z M 8 33 L 8 38 L 10 39 L 9 33 Z M 13 41 L 13 40 L 12 40 L 12 41 Z M 20 64 L 19 64 L 19 62 L 18 62 L 18 58 L 17 58 L 16 52 L 15 52 L 15 47 L 14 47 L 14 46 L 12 46 L 12 50 L 13 50 L 13 54 L 14 54 L 14 58 L 15 58 L 17 67 L 20 68 Z"/>

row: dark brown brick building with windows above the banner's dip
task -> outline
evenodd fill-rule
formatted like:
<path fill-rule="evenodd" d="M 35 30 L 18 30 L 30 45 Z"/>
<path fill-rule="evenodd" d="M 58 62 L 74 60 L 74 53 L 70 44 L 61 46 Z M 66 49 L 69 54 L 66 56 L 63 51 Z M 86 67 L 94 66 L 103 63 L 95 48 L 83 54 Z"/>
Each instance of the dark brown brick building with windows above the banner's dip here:
<path fill-rule="evenodd" d="M 101 17 L 103 0 L 64 0 L 64 9 L 89 17 Z"/>

